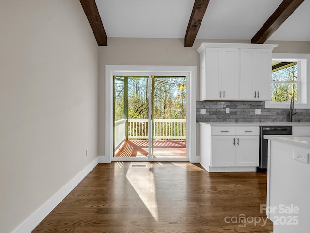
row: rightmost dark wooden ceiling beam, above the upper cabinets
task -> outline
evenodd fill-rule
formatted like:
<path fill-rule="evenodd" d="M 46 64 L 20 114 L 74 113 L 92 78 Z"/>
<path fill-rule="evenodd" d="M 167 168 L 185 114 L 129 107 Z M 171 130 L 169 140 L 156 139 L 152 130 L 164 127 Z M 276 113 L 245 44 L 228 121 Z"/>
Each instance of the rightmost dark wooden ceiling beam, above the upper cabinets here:
<path fill-rule="evenodd" d="M 304 0 L 283 0 L 263 27 L 251 39 L 253 44 L 263 44 L 281 24 L 299 7 Z"/>

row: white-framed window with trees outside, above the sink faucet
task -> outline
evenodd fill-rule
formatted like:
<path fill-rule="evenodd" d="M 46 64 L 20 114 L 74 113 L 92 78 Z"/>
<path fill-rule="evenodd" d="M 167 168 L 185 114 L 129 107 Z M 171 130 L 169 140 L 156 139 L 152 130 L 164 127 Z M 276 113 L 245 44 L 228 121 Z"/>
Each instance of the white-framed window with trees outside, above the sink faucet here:
<path fill-rule="evenodd" d="M 288 109 L 294 96 L 295 108 L 310 108 L 307 64 L 310 54 L 272 54 L 271 101 L 265 108 Z"/>

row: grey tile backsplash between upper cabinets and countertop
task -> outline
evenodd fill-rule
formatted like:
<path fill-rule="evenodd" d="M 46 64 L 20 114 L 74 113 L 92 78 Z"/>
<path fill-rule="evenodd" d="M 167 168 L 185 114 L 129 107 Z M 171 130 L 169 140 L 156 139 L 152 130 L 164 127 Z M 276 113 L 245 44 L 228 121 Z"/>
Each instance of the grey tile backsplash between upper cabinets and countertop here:
<path fill-rule="evenodd" d="M 226 113 L 229 108 L 230 113 Z M 206 109 L 201 114 L 200 109 Z M 261 114 L 255 114 L 261 109 Z M 310 109 L 294 109 L 292 122 L 310 122 Z M 264 101 L 197 101 L 197 122 L 288 122 L 289 109 L 265 109 Z"/>

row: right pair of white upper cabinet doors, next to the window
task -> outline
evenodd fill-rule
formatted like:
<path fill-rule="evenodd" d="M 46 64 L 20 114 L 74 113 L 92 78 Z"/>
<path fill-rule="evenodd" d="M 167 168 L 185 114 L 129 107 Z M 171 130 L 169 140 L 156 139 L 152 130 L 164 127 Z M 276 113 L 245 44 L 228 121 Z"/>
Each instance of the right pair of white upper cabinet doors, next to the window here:
<path fill-rule="evenodd" d="M 271 50 L 240 49 L 240 99 L 271 99 Z"/>

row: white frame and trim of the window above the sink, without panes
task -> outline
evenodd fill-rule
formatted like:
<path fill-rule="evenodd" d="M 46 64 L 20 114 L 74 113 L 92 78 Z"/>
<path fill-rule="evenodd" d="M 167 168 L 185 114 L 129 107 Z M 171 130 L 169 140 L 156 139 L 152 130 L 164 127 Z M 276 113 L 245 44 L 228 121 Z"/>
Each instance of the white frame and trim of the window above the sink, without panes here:
<path fill-rule="evenodd" d="M 279 62 L 297 62 L 298 63 L 298 102 L 294 103 L 295 109 L 310 109 L 310 54 L 302 53 L 273 53 L 272 61 Z M 270 76 L 271 78 L 271 76 Z M 271 82 L 273 83 L 273 82 Z M 285 83 L 285 82 L 279 82 Z M 292 82 L 287 82 L 292 83 Z M 271 90 L 271 86 L 270 86 Z M 289 109 L 290 102 L 271 102 L 265 101 L 265 108 L 267 109 Z"/>

